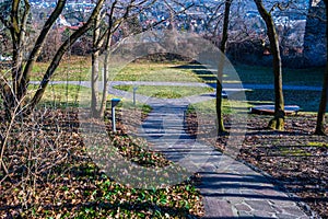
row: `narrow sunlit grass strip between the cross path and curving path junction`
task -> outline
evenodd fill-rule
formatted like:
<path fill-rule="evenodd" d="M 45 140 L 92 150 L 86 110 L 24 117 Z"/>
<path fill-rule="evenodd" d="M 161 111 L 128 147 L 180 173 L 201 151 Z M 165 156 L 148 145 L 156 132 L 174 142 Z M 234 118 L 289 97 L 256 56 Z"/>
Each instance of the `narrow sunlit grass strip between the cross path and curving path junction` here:
<path fill-rule="evenodd" d="M 122 91 L 133 91 L 132 85 L 116 85 L 115 89 Z M 137 93 L 153 96 L 159 99 L 180 99 L 184 96 L 198 95 L 203 93 L 214 92 L 212 88 L 199 87 L 154 87 L 154 85 L 140 85 Z"/>

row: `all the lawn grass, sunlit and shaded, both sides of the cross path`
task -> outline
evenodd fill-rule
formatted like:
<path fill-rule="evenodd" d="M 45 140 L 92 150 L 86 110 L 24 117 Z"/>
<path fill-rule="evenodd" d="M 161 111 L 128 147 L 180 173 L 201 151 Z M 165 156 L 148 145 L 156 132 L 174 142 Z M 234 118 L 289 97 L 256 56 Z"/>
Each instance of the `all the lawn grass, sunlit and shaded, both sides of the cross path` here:
<path fill-rule="evenodd" d="M 46 71 L 48 64 L 37 62 L 34 66 L 32 80 L 40 80 Z M 71 57 L 63 60 L 54 74 L 54 81 L 80 81 L 90 80 L 91 59 L 85 57 Z M 238 65 L 235 67 L 238 74 L 234 73 L 234 69 L 225 69 L 224 82 L 237 82 L 239 79 L 243 83 L 263 83 L 272 84 L 273 73 L 272 69 L 268 67 L 255 67 Z M 283 84 L 288 85 L 316 85 L 321 87 L 324 68 L 312 69 L 283 69 Z M 116 76 L 110 76 L 114 80 L 119 81 L 174 81 L 174 82 L 215 82 L 215 77 L 200 65 L 188 64 L 184 61 L 174 62 L 151 62 L 138 61 L 127 65 Z M 75 103 L 78 88 L 70 88 L 68 100 L 66 95 L 66 85 L 58 85 L 54 93 L 51 88 L 43 97 L 43 102 L 54 102 L 60 105 L 67 105 L 67 102 Z M 118 87 L 125 91 L 131 91 L 131 87 Z M 83 90 L 83 89 L 82 89 Z M 140 87 L 138 93 L 167 99 L 178 99 L 186 95 L 200 94 L 212 92 L 212 90 L 204 90 L 203 88 L 159 88 L 159 87 Z M 274 96 L 273 90 L 255 90 L 246 92 L 249 105 L 256 104 L 272 104 Z M 320 92 L 318 91 L 284 91 L 285 104 L 300 105 L 303 112 L 316 112 L 318 108 Z M 55 103 L 55 102 L 54 102 Z M 204 104 L 207 105 L 207 104 Z M 210 104 L 212 107 L 213 104 Z"/>

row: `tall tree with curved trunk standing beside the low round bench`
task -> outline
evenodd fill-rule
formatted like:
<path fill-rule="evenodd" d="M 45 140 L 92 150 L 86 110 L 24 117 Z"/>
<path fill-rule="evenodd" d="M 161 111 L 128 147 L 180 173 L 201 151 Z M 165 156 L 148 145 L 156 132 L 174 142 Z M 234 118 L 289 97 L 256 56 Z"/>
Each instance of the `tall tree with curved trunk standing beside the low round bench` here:
<path fill-rule="evenodd" d="M 263 19 L 267 26 L 267 35 L 270 42 L 270 50 L 273 57 L 273 74 L 274 74 L 274 117 L 269 123 L 269 128 L 283 130 L 284 129 L 284 100 L 282 92 L 282 64 L 279 48 L 279 37 L 276 31 L 276 25 L 271 11 L 268 12 L 262 0 L 254 0 L 260 16 Z"/>

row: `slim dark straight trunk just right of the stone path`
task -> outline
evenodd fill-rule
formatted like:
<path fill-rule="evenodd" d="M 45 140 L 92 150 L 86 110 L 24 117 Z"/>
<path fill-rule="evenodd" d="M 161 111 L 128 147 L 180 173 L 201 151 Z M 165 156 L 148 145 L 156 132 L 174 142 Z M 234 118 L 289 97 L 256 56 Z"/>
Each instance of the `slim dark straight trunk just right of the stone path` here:
<path fill-rule="evenodd" d="M 224 21 L 223 21 L 223 32 L 222 32 L 222 41 L 220 45 L 221 54 L 218 66 L 218 80 L 216 80 L 216 119 L 218 119 L 218 135 L 222 135 L 225 132 L 223 115 L 222 115 L 222 82 L 223 82 L 223 70 L 224 70 L 224 54 L 226 50 L 226 42 L 227 42 L 227 31 L 229 31 L 229 16 L 230 16 L 230 8 L 232 0 L 225 0 L 224 8 Z"/>

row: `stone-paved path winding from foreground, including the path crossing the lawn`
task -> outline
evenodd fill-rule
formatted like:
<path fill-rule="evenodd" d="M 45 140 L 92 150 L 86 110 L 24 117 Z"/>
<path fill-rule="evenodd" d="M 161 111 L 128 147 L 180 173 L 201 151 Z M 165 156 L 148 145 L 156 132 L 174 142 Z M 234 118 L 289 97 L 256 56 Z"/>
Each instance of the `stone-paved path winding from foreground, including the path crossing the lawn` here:
<path fill-rule="evenodd" d="M 87 82 L 69 83 L 90 87 Z M 263 89 L 269 85 L 262 84 L 256 88 Z M 231 89 L 235 88 L 231 87 Z M 297 90 L 301 87 L 290 89 Z M 131 93 L 115 90 L 113 84 L 108 92 L 132 99 Z M 186 134 L 184 112 L 188 104 L 213 97 L 208 94 L 181 100 L 159 100 L 136 95 L 139 102 L 147 103 L 153 108 L 139 128 L 139 136 L 148 139 L 153 145 L 152 149 L 163 152 L 167 159 L 191 172 L 200 173 L 202 181 L 199 188 L 203 197 L 204 218 L 315 218 L 315 216 L 307 216 L 289 195 L 276 187 L 269 177 L 215 151 L 211 146 L 198 142 Z"/>

